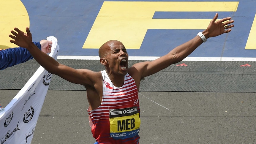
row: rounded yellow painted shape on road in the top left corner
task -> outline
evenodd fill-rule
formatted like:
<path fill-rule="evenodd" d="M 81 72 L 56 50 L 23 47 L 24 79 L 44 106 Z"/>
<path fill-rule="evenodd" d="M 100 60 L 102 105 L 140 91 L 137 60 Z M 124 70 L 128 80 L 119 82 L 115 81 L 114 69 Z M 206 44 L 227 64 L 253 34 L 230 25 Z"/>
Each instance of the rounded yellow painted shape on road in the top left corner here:
<path fill-rule="evenodd" d="M 0 6 L 0 49 L 18 47 L 10 43 L 9 34 L 14 27 L 26 31 L 25 28 L 29 27 L 28 12 L 20 0 L 2 0 Z"/>

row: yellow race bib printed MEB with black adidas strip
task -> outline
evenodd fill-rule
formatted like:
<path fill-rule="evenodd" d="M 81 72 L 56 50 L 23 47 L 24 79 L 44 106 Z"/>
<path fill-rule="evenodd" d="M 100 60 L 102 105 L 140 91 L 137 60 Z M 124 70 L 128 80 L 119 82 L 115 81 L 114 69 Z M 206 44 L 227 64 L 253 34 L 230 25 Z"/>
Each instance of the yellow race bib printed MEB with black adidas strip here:
<path fill-rule="evenodd" d="M 111 109 L 109 111 L 110 137 L 126 139 L 140 131 L 140 113 L 137 107 Z"/>

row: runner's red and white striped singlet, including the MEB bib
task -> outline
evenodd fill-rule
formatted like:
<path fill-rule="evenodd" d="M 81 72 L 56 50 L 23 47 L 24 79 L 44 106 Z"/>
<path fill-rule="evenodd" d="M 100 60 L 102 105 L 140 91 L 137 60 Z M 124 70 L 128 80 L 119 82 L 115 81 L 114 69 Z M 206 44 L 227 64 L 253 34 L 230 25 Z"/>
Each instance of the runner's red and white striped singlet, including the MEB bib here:
<path fill-rule="evenodd" d="M 105 70 L 101 74 L 102 103 L 87 109 L 93 137 L 99 144 L 139 144 L 140 107 L 134 79 L 127 73 L 124 85 L 116 87 Z"/>

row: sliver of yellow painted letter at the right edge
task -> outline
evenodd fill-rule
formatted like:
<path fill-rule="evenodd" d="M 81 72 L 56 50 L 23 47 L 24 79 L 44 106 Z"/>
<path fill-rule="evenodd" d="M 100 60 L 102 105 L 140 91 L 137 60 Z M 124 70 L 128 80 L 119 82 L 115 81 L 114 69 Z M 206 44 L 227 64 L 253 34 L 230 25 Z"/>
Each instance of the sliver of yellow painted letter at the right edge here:
<path fill-rule="evenodd" d="M 249 37 L 246 42 L 245 49 L 247 50 L 256 49 L 256 14 L 252 23 L 252 28 L 249 33 Z"/>

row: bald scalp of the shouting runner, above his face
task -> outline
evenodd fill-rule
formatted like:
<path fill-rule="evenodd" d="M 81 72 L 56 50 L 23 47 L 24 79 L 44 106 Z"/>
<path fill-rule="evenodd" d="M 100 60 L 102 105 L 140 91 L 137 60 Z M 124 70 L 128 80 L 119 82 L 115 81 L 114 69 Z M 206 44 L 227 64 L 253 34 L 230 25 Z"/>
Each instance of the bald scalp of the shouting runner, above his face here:
<path fill-rule="evenodd" d="M 99 48 L 99 58 L 104 58 L 107 55 L 108 50 L 113 48 L 115 44 L 122 44 L 118 40 L 109 40 L 105 42 L 100 48 Z M 123 44 L 122 44 L 123 45 Z"/>

